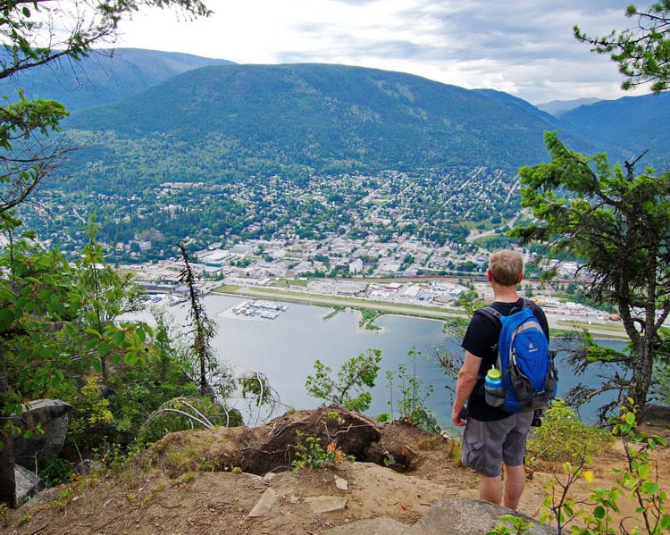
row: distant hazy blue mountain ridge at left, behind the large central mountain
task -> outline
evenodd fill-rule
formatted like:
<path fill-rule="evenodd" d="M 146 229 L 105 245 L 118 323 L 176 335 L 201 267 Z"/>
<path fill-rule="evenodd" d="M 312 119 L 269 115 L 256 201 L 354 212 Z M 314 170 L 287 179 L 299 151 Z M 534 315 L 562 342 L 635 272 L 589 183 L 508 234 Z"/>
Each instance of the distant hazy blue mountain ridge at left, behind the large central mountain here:
<path fill-rule="evenodd" d="M 185 71 L 230 63 L 136 48 L 99 50 L 80 62 L 61 59 L 0 80 L 0 94 L 13 98 L 17 88 L 25 88 L 29 98 L 57 100 L 77 110 L 124 100 Z"/>

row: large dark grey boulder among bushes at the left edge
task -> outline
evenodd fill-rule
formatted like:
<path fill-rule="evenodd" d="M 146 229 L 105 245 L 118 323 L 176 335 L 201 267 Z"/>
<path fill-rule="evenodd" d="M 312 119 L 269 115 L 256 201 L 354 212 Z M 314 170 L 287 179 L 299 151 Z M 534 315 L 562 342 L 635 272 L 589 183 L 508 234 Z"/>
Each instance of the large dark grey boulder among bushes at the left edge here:
<path fill-rule="evenodd" d="M 35 464 L 36 458 L 58 455 L 63 448 L 71 413 L 72 405 L 57 399 L 37 399 L 23 405 L 23 412 L 14 416 L 14 423 L 21 428 L 21 433 L 14 436 L 15 462 L 30 466 Z M 44 432 L 34 432 L 28 439 L 22 437 L 38 425 Z"/>

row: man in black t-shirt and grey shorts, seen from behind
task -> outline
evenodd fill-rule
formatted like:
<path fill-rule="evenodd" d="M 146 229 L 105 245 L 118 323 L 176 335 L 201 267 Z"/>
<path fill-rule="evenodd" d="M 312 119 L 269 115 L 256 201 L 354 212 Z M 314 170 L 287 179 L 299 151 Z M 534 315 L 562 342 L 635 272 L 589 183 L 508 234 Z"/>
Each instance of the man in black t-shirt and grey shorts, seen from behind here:
<path fill-rule="evenodd" d="M 523 297 L 516 286 L 523 279 L 523 259 L 515 251 L 500 250 L 490 255 L 487 277 L 493 288 L 491 305 L 502 315 L 523 308 Z M 549 325 L 544 312 L 533 305 L 532 312 L 549 340 Z M 508 414 L 486 404 L 484 375 L 498 358 L 499 325 L 483 314 L 475 313 L 470 320 L 461 347 L 465 360 L 456 380 L 456 399 L 451 421 L 465 425 L 463 433 L 463 464 L 480 476 L 479 497 L 494 504 L 516 509 L 525 486 L 526 439 L 531 428 L 532 412 Z M 465 410 L 467 402 L 467 410 Z M 505 468 L 503 491 L 501 466 Z"/>

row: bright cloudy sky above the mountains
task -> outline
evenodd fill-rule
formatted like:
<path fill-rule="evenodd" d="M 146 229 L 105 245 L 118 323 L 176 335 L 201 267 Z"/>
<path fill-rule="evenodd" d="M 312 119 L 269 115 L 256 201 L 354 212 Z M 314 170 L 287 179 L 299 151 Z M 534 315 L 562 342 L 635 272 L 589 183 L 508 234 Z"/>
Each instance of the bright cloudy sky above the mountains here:
<path fill-rule="evenodd" d="M 606 55 L 573 37 L 634 24 L 627 0 L 209 0 L 214 15 L 184 21 L 142 12 L 115 46 L 186 52 L 235 63 L 343 63 L 402 71 L 532 104 L 621 91 Z M 638 4 L 646 9 L 648 4 Z M 648 89 L 647 89 L 648 91 Z"/>

